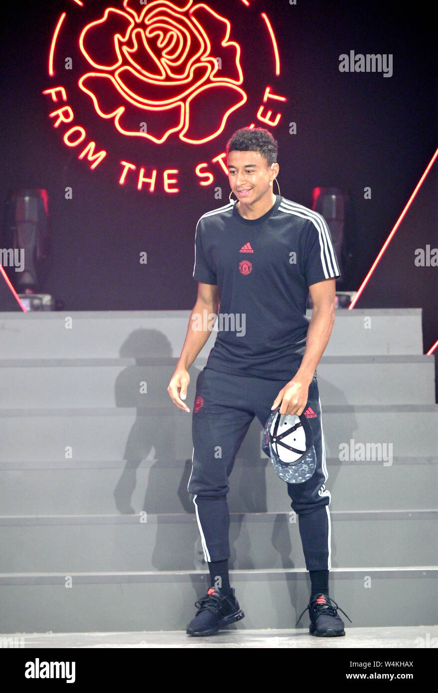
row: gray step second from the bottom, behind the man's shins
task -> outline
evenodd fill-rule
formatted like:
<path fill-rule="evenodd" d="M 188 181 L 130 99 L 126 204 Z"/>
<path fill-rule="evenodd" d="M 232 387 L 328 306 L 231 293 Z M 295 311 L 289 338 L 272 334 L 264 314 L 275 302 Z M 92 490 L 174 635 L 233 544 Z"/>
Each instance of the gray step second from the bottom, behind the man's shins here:
<path fill-rule="evenodd" d="M 331 563 L 433 565 L 437 518 L 438 510 L 333 512 Z M 294 514 L 231 514 L 230 520 L 231 568 L 305 568 Z M 192 570 L 203 564 L 194 513 L 0 517 L 0 543 L 0 572 Z"/>

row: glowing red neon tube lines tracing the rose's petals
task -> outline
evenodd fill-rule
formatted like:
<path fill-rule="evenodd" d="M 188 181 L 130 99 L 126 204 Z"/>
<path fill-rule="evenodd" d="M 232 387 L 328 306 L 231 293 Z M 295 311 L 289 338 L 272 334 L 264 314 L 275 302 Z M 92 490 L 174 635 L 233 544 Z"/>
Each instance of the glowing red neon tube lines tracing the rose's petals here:
<path fill-rule="evenodd" d="M 125 10 L 130 10 L 130 8 L 126 6 L 127 1 L 128 0 L 125 0 L 123 2 L 123 7 L 125 8 Z M 225 17 L 221 17 L 220 15 L 218 15 L 217 12 L 211 10 L 211 8 L 209 8 L 207 5 L 204 5 L 203 3 L 200 3 L 195 7 L 191 8 L 189 12 L 189 18 L 183 17 L 182 12 L 184 12 L 191 6 L 191 2 L 192 0 L 189 1 L 184 10 L 179 10 L 179 12 L 175 12 L 175 6 L 173 6 L 166 0 L 161 0 L 159 3 L 157 3 L 159 6 L 157 8 L 152 9 L 152 11 L 150 11 L 150 9 L 155 3 L 152 3 L 152 6 L 146 6 L 144 10 L 141 12 L 140 16 L 137 15 L 137 12 L 134 12 L 134 10 L 130 10 L 131 14 L 134 15 L 134 17 L 136 17 L 138 21 L 144 19 L 144 23 L 146 24 L 146 26 L 148 24 L 152 24 L 152 26 L 147 26 L 146 31 L 139 27 L 134 28 L 135 21 L 134 19 L 132 19 L 132 16 L 128 16 L 121 10 L 115 10 L 114 8 L 107 8 L 101 19 L 90 22 L 89 24 L 87 24 L 87 26 L 85 26 L 84 29 L 82 29 L 79 38 L 79 46 L 80 50 L 82 51 L 82 54 L 85 55 L 85 58 L 87 58 L 91 65 L 93 65 L 97 69 L 105 70 L 106 73 L 89 72 L 80 77 L 78 85 L 80 89 L 82 89 L 82 91 L 85 91 L 87 94 L 89 94 L 89 96 L 93 100 L 94 108 L 96 109 L 96 112 L 100 117 L 105 119 L 114 118 L 114 125 L 116 127 L 116 130 L 119 130 L 121 134 L 125 134 L 131 137 L 146 137 L 146 139 L 150 139 L 158 144 L 161 144 L 167 139 L 167 137 L 172 132 L 179 132 L 179 130 L 181 130 L 181 132 L 179 132 L 180 139 L 192 144 L 202 144 L 204 142 L 210 141 L 214 137 L 217 137 L 218 134 L 220 134 L 222 130 L 225 128 L 225 123 L 227 121 L 229 114 L 231 114 L 231 112 L 239 108 L 247 101 L 247 94 L 245 93 L 245 91 L 243 91 L 243 89 L 240 89 L 240 87 L 238 87 L 238 85 L 242 84 L 243 82 L 243 72 L 240 67 L 240 46 L 234 41 L 229 41 L 231 23 L 228 19 L 225 19 Z M 159 12 L 162 12 L 163 10 L 163 5 L 166 6 L 164 9 L 166 9 L 168 14 L 172 15 L 172 17 L 168 17 L 167 15 L 159 15 Z M 213 15 L 213 17 L 215 17 L 218 21 L 221 21 L 225 24 L 225 38 L 221 41 L 221 45 L 224 46 L 224 48 L 227 46 L 233 46 L 234 49 L 236 49 L 235 60 L 236 69 L 238 71 L 237 80 L 225 77 L 215 77 L 215 74 L 218 71 L 218 65 L 216 63 L 215 58 L 212 58 L 209 55 L 209 53 L 211 52 L 211 43 L 209 41 L 209 37 L 205 33 L 204 29 L 202 28 L 198 20 L 193 16 L 193 12 L 195 12 L 199 8 L 207 10 L 207 12 Z M 116 12 L 117 14 L 122 15 L 125 19 L 128 19 L 129 26 L 125 31 L 124 36 L 122 36 L 121 34 L 116 34 L 114 36 L 114 50 L 116 52 L 117 60 L 116 62 L 114 62 L 112 66 L 108 67 L 105 65 L 100 65 L 91 59 L 91 56 L 85 50 L 84 37 L 85 33 L 87 32 L 87 30 L 89 30 L 91 26 L 103 24 L 103 22 L 107 20 L 109 12 Z M 145 16 L 146 12 L 148 12 L 147 16 Z M 183 19 L 184 24 L 186 24 L 186 26 L 181 26 L 181 24 L 178 24 L 178 21 L 175 21 L 173 17 L 175 17 L 179 22 Z M 191 33 L 186 27 L 190 29 Z M 166 29 L 167 34 L 165 35 L 164 31 L 161 29 Z M 155 64 L 157 64 L 157 67 L 161 73 L 160 75 L 152 75 L 151 73 L 148 73 L 148 71 L 141 68 L 141 66 L 138 65 L 133 58 L 134 53 L 136 53 L 137 49 L 139 48 L 139 42 L 137 40 L 137 35 L 139 33 L 141 34 L 141 41 L 143 42 L 143 46 L 146 49 L 146 51 L 148 51 L 150 57 L 155 61 Z M 182 64 L 182 62 L 184 62 L 186 55 L 189 53 L 190 50 L 191 36 L 193 34 L 200 42 L 200 49 L 195 53 L 195 55 L 191 57 L 184 69 L 184 73 L 182 75 L 177 76 L 173 72 L 173 69 L 177 67 L 177 65 L 180 65 Z M 170 43 L 166 46 L 166 48 L 164 48 L 164 51 L 162 51 L 161 59 L 157 59 L 148 46 L 147 37 L 155 35 L 159 36 L 157 45 L 161 48 L 163 48 L 163 46 L 166 46 L 166 44 Z M 186 39 L 185 41 L 184 37 Z M 132 39 L 133 42 L 132 48 L 128 48 L 127 45 L 120 46 L 121 43 L 126 43 L 130 39 Z M 184 44 L 186 44 L 186 47 L 184 50 L 182 50 L 184 48 Z M 123 65 L 123 56 L 121 51 L 123 51 L 123 55 L 125 55 L 125 57 L 129 60 L 132 67 L 130 67 L 129 65 Z M 171 51 L 173 51 L 173 53 Z M 181 51 L 182 54 L 179 55 Z M 112 74 L 108 74 L 108 71 L 114 71 L 114 76 Z M 204 71 L 203 75 L 202 71 Z M 193 79 L 195 72 L 198 72 L 198 74 L 200 74 L 198 80 Z M 175 96 L 169 95 L 168 98 L 161 98 L 159 101 L 152 100 L 150 98 L 146 98 L 145 96 L 139 96 L 139 94 L 137 94 L 137 91 L 132 91 L 132 89 L 130 89 L 130 87 L 128 87 L 128 85 L 125 84 L 125 81 L 123 80 L 123 75 L 125 73 L 130 73 L 139 84 L 141 84 L 141 82 L 144 82 L 145 90 L 143 91 L 143 94 L 148 94 L 148 85 L 159 85 L 161 87 L 168 87 L 169 89 L 175 89 L 175 87 L 187 85 L 187 88 L 184 91 L 182 91 L 182 93 L 180 92 Z M 116 109 L 114 109 L 110 114 L 104 113 L 100 108 L 97 97 L 94 95 L 92 91 L 87 89 L 87 87 L 85 87 L 84 85 L 84 82 L 87 77 L 105 77 L 111 80 L 112 86 L 116 88 L 116 90 L 119 92 L 123 99 L 128 100 L 128 102 L 131 103 L 134 107 L 140 108 L 143 111 L 152 111 L 160 113 L 164 110 L 177 107 L 179 108 L 179 123 L 177 123 L 177 125 L 173 128 L 169 128 L 168 130 L 166 130 L 166 132 L 163 134 L 161 138 L 154 137 L 148 132 L 131 132 L 124 130 L 123 126 L 120 123 L 121 116 L 123 116 L 123 114 L 125 113 L 125 106 L 123 105 L 123 101 L 122 104 Z M 166 80 L 166 77 L 170 77 L 171 79 Z M 193 82 L 195 82 L 194 86 Z M 190 127 L 189 105 L 191 101 L 193 100 L 193 98 L 195 98 L 195 96 L 198 96 L 198 94 L 200 94 L 201 91 L 206 91 L 211 87 L 219 86 L 227 87 L 229 89 L 234 89 L 234 91 L 238 91 L 240 94 L 240 100 L 238 100 L 238 103 L 231 106 L 227 110 L 227 112 L 225 112 L 225 115 L 222 117 L 220 127 L 218 128 L 218 130 L 216 130 L 216 132 L 213 132 L 213 134 L 210 134 L 208 137 L 204 137 L 200 140 L 189 139 L 188 137 L 185 137 L 185 134 Z"/>

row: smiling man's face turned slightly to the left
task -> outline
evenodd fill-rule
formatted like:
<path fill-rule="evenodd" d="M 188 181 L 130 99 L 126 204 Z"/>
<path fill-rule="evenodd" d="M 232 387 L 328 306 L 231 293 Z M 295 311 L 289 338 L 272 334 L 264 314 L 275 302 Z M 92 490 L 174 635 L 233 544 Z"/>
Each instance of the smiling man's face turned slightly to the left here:
<path fill-rule="evenodd" d="M 228 152 L 227 166 L 229 184 L 239 202 L 252 205 L 271 197 L 270 181 L 274 178 L 277 164 L 271 168 L 268 159 L 262 157 L 260 152 L 231 150 Z"/>

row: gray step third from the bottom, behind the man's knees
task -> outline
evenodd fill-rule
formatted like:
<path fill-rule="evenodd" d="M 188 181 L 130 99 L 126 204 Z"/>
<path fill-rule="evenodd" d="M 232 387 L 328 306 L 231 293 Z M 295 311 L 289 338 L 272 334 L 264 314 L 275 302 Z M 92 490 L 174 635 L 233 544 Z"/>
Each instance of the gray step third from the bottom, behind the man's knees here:
<path fill-rule="evenodd" d="M 394 457 L 392 466 L 332 458 L 326 464 L 333 510 L 426 510 L 436 505 L 438 457 Z M 0 507 L 3 515 L 191 513 L 190 473 L 191 458 L 146 459 L 138 467 L 71 459 L 2 462 Z M 236 459 L 228 504 L 231 512 L 290 510 L 287 486 L 268 457 Z"/>

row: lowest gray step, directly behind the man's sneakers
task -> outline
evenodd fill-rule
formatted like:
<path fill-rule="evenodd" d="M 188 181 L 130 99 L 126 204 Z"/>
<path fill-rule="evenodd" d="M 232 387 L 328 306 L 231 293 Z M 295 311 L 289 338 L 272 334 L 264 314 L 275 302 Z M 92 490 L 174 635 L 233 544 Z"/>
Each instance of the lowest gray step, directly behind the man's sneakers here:
<path fill-rule="evenodd" d="M 184 630 L 207 592 L 204 572 L 0 575 L 3 633 Z M 304 570 L 235 570 L 245 618 L 234 629 L 295 628 L 308 604 Z M 69 585 L 71 585 L 69 587 Z M 352 627 L 438 623 L 438 568 L 333 569 L 330 594 Z M 340 613 L 346 624 L 349 621 Z M 308 633 L 308 613 L 299 629 Z M 330 643 L 329 643 L 330 644 Z M 141 646 L 141 637 L 139 638 Z"/>

